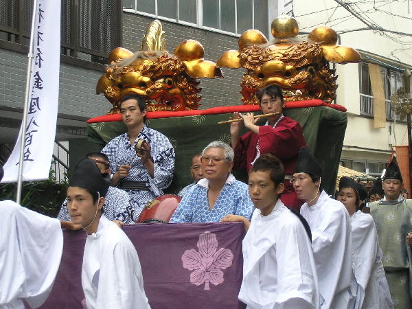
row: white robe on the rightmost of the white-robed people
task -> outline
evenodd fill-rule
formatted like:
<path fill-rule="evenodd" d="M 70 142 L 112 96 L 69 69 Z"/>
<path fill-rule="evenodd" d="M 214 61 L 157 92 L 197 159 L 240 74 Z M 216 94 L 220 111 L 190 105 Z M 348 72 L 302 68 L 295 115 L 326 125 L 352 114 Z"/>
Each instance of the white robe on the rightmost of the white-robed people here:
<path fill-rule="evenodd" d="M 374 219 L 356 211 L 351 216 L 352 258 L 357 293 L 355 309 L 391 309 L 391 293 L 382 265 Z"/>

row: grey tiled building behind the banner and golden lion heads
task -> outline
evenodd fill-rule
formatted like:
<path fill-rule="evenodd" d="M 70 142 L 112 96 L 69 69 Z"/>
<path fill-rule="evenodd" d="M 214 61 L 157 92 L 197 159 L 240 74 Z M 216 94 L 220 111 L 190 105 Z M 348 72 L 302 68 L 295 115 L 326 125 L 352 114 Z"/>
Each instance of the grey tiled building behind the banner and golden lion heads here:
<path fill-rule="evenodd" d="M 0 2 L 0 162 L 8 158 L 21 124 L 30 2 Z M 216 62 L 223 52 L 238 46 L 244 30 L 256 28 L 268 36 L 272 19 L 292 8 L 291 1 L 282 1 L 281 6 L 279 10 L 275 0 L 62 1 L 56 141 L 69 141 L 65 146 L 74 152 L 87 145 L 85 122 L 111 108 L 103 95 L 95 94 L 108 53 L 116 47 L 139 50 L 154 19 L 163 25 L 169 52 L 194 39 L 205 48 L 205 59 Z M 223 73 L 224 82 L 201 80 L 201 108 L 240 104 L 242 71 L 223 69 Z M 78 159 L 71 157 L 71 163 Z"/>

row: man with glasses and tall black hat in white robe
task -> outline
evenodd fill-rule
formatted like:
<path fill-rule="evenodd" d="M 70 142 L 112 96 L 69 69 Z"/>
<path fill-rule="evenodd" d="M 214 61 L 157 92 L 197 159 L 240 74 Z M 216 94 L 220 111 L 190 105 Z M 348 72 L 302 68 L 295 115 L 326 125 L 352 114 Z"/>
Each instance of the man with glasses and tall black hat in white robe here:
<path fill-rule="evenodd" d="M 312 231 L 321 308 L 352 308 L 356 286 L 352 282 L 350 218 L 341 202 L 320 190 L 321 175 L 317 160 L 302 147 L 291 182 L 297 197 L 306 201 L 300 213 Z"/>

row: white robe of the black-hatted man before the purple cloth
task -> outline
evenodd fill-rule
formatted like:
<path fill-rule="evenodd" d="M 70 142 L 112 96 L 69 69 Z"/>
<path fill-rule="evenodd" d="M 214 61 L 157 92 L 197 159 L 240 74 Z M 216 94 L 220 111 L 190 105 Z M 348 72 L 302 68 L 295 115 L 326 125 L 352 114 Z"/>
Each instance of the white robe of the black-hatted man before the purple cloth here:
<path fill-rule="evenodd" d="M 98 231 L 87 236 L 82 287 L 88 309 L 150 308 L 135 247 L 103 215 Z"/>

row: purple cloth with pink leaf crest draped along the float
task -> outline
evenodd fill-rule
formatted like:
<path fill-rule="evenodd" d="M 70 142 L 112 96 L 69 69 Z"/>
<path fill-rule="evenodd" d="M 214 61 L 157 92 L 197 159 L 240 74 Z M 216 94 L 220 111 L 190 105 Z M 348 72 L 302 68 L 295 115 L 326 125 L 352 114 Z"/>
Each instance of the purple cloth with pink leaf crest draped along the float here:
<path fill-rule="evenodd" d="M 242 223 L 138 224 L 126 225 L 123 230 L 139 254 L 151 308 L 244 308 L 238 301 Z M 60 269 L 41 308 L 82 308 L 86 234 L 63 234 Z"/>

